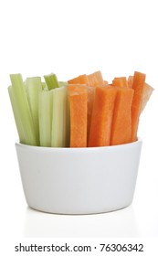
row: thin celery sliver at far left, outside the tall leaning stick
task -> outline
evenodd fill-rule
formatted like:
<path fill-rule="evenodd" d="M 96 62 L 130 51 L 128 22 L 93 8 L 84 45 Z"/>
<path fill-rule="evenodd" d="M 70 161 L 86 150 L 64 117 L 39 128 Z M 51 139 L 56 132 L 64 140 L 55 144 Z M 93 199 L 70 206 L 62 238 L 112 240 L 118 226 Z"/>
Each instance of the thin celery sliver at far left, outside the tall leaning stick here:
<path fill-rule="evenodd" d="M 26 144 L 25 132 L 24 132 L 24 129 L 23 129 L 23 124 L 21 122 L 19 110 L 17 108 L 15 94 L 14 94 L 12 86 L 8 87 L 8 92 L 9 92 L 9 97 L 10 97 L 10 101 L 11 101 L 11 105 L 12 105 L 12 110 L 13 110 L 14 117 L 15 117 L 16 129 L 17 129 L 17 133 L 18 133 L 18 136 L 19 136 L 20 143 L 21 144 Z"/>

